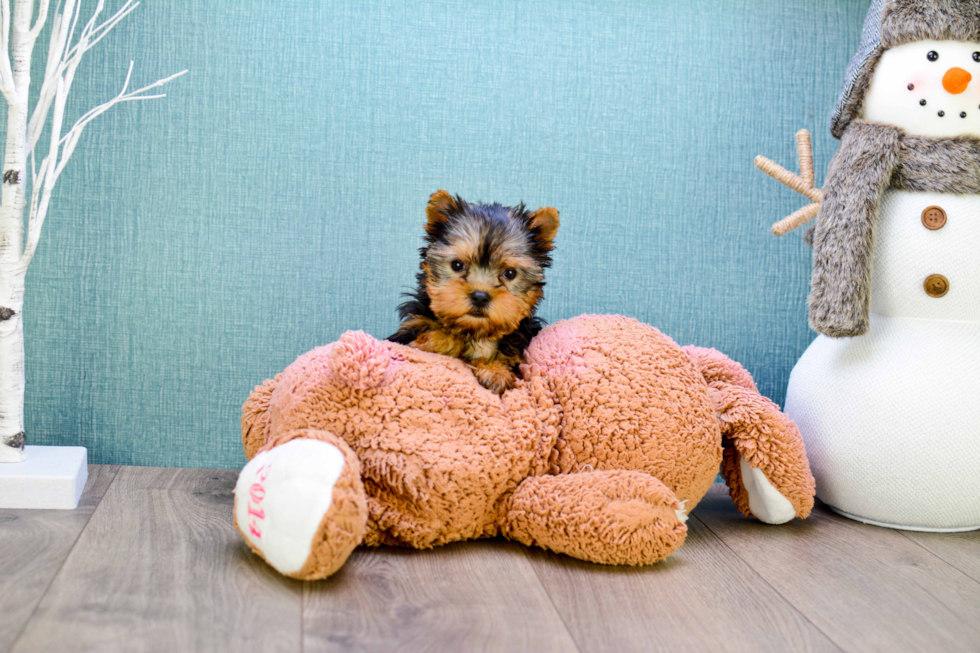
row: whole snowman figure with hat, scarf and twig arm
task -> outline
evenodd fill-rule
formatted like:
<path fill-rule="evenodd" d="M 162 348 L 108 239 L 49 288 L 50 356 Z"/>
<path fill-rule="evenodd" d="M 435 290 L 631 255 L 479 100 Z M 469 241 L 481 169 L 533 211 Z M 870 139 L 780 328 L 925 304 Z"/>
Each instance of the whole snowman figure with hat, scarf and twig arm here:
<path fill-rule="evenodd" d="M 815 201 L 810 325 L 790 376 L 817 496 L 866 523 L 980 529 L 980 1 L 875 0 Z"/>

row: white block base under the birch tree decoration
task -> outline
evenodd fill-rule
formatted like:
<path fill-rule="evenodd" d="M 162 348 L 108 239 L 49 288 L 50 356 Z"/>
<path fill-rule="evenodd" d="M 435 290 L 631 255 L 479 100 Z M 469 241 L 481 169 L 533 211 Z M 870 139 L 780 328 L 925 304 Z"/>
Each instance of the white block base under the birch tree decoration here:
<path fill-rule="evenodd" d="M 24 462 L 0 463 L 0 508 L 77 508 L 88 480 L 85 447 L 26 449 Z"/>

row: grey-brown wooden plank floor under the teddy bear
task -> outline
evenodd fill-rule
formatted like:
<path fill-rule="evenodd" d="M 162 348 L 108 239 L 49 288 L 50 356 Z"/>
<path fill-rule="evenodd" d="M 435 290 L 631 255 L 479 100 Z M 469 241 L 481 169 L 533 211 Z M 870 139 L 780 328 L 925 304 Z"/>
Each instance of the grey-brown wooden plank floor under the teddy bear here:
<path fill-rule="evenodd" d="M 715 486 L 652 567 L 490 540 L 300 583 L 235 532 L 236 476 L 93 465 L 78 510 L 0 510 L 0 651 L 980 651 L 980 532 L 764 526 Z"/>

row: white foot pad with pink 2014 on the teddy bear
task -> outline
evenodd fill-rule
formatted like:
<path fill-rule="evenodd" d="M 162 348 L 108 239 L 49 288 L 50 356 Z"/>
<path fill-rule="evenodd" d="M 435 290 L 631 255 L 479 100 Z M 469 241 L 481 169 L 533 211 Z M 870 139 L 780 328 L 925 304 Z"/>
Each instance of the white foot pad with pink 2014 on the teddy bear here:
<path fill-rule="evenodd" d="M 235 485 L 235 519 L 252 548 L 283 574 L 298 572 L 344 470 L 336 446 L 296 439 L 249 461 Z"/>

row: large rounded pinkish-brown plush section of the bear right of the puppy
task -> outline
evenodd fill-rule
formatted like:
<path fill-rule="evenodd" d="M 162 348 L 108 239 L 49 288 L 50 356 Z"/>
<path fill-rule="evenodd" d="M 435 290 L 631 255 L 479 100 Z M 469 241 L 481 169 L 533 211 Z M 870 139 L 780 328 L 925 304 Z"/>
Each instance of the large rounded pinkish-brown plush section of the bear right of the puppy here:
<path fill-rule="evenodd" d="M 670 338 L 625 317 L 582 316 L 533 340 L 526 358 L 525 376 L 546 378 L 561 408 L 549 473 L 640 469 L 692 506 L 711 487 L 704 470 L 720 454 L 714 406 Z"/>

